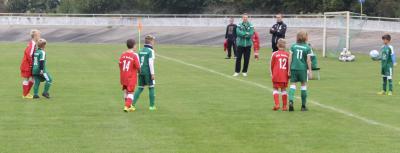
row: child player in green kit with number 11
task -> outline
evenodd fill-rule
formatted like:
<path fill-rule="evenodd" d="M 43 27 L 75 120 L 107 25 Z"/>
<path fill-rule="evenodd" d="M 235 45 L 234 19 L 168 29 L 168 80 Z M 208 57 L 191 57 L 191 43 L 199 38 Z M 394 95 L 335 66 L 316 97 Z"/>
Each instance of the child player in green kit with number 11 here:
<path fill-rule="evenodd" d="M 301 111 L 307 111 L 307 81 L 312 78 L 311 55 L 312 49 L 307 44 L 308 34 L 305 31 L 297 33 L 297 42 L 290 48 L 289 54 L 289 111 L 294 111 L 293 101 L 296 83 L 301 83 Z"/>

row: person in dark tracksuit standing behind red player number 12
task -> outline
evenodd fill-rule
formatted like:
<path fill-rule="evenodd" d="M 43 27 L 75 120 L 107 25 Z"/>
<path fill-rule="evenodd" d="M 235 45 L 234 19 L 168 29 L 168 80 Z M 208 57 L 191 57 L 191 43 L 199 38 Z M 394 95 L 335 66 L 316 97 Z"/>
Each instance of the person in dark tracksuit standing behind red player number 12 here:
<path fill-rule="evenodd" d="M 272 51 L 276 52 L 278 51 L 278 40 L 280 38 L 285 38 L 285 34 L 286 34 L 286 24 L 283 23 L 282 21 L 282 14 L 278 14 L 276 15 L 276 24 L 274 24 L 272 26 L 272 28 L 269 30 L 269 33 L 272 34 Z"/>

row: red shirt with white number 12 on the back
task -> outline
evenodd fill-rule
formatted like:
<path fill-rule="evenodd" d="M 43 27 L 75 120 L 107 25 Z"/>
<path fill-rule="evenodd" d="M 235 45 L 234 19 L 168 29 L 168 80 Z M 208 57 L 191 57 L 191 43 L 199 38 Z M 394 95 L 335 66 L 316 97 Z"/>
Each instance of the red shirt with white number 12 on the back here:
<path fill-rule="evenodd" d="M 287 83 L 289 80 L 288 76 L 288 62 L 289 53 L 285 51 L 277 51 L 272 53 L 271 56 L 271 73 L 272 82 Z"/>

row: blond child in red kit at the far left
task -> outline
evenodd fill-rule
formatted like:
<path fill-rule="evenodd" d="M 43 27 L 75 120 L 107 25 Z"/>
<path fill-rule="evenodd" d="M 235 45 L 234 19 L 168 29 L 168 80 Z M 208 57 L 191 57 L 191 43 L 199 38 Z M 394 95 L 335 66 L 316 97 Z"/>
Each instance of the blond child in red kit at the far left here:
<path fill-rule="evenodd" d="M 31 41 L 29 41 L 28 46 L 25 48 L 24 57 L 22 58 L 21 62 L 21 77 L 22 81 L 22 98 L 24 99 L 32 99 L 33 96 L 29 94 L 31 88 L 34 84 L 32 78 L 32 64 L 33 64 L 33 53 L 36 51 L 36 42 L 40 39 L 40 31 L 39 30 L 32 30 L 31 33 Z"/>

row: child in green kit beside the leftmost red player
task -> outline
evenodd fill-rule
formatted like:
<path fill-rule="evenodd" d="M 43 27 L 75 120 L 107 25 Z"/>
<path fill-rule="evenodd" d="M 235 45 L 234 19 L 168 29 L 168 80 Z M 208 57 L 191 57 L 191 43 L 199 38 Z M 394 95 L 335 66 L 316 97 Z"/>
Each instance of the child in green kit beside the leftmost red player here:
<path fill-rule="evenodd" d="M 45 82 L 44 91 L 42 96 L 46 98 L 50 98 L 49 90 L 52 83 L 52 78 L 49 72 L 47 71 L 46 65 L 46 52 L 44 51 L 46 47 L 46 40 L 39 39 L 38 41 L 38 50 L 33 53 L 33 67 L 32 74 L 35 79 L 35 84 L 33 86 L 33 98 L 39 98 L 39 85 L 40 82 Z"/>

